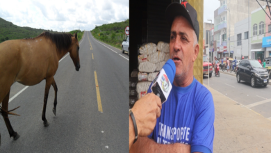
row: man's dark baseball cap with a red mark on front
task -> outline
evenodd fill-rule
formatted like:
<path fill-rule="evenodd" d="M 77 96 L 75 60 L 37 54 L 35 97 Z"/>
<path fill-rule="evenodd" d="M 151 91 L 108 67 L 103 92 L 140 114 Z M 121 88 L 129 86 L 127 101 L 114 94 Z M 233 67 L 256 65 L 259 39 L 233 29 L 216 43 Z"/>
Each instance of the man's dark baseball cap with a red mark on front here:
<path fill-rule="evenodd" d="M 181 3 L 174 2 L 167 6 L 165 17 L 170 26 L 172 25 L 174 18 L 179 15 L 188 20 L 197 35 L 197 41 L 199 41 L 199 22 L 197 21 L 197 11 L 195 8 L 193 8 L 186 0 Z"/>

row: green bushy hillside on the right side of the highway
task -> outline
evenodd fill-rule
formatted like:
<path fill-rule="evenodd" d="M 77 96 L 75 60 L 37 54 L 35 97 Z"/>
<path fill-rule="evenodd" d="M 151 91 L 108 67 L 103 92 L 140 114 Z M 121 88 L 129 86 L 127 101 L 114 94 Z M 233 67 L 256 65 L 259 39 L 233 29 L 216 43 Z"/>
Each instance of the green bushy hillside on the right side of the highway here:
<path fill-rule="evenodd" d="M 95 26 L 95 29 L 90 32 L 96 39 L 122 49 L 122 42 L 126 38 L 124 32 L 126 26 L 129 26 L 129 19 L 126 19 L 124 22 Z"/>

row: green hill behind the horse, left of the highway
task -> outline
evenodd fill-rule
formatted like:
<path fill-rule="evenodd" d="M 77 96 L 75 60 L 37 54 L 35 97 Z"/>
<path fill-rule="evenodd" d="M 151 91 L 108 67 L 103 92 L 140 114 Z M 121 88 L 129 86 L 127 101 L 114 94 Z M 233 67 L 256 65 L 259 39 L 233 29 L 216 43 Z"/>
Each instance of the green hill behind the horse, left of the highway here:
<path fill-rule="evenodd" d="M 16 26 L 12 22 L 8 22 L 5 19 L 2 19 L 0 17 L 0 43 L 5 40 L 15 40 L 15 39 L 23 39 L 23 38 L 35 38 L 40 33 L 44 31 L 49 31 L 51 33 L 57 33 L 57 31 L 50 31 L 50 30 L 44 30 L 44 29 L 33 29 L 30 27 L 21 27 Z M 79 33 L 77 33 L 79 40 L 81 40 L 83 31 L 76 30 Z M 70 31 L 69 33 L 74 34 L 76 31 Z"/>

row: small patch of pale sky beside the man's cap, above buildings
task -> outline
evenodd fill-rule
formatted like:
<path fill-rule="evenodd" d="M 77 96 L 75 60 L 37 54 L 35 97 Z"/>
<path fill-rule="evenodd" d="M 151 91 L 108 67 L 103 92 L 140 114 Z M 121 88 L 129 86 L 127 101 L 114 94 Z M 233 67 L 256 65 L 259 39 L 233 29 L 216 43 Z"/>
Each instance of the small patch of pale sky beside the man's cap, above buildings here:
<path fill-rule="evenodd" d="M 220 1 L 219 0 L 204 0 L 204 22 L 211 23 L 207 21 L 207 19 L 212 19 L 213 23 L 213 13 L 217 8 L 220 7 Z"/>

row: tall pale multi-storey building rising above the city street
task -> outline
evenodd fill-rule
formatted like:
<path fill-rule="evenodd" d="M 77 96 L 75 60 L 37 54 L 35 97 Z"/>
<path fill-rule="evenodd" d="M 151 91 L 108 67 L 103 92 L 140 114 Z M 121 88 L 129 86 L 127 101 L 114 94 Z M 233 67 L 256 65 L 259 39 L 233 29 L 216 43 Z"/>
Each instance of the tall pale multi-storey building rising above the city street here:
<path fill-rule="evenodd" d="M 214 43 L 217 57 L 229 57 L 234 54 L 235 24 L 249 18 L 250 12 L 259 5 L 255 0 L 219 0 L 220 8 L 214 12 Z M 264 1 L 258 1 L 262 6 Z M 250 27 L 249 27 L 250 29 Z M 240 36 L 239 36 L 240 37 Z M 232 40 L 233 39 L 233 40 Z M 239 45 L 239 44 L 238 44 Z"/>

